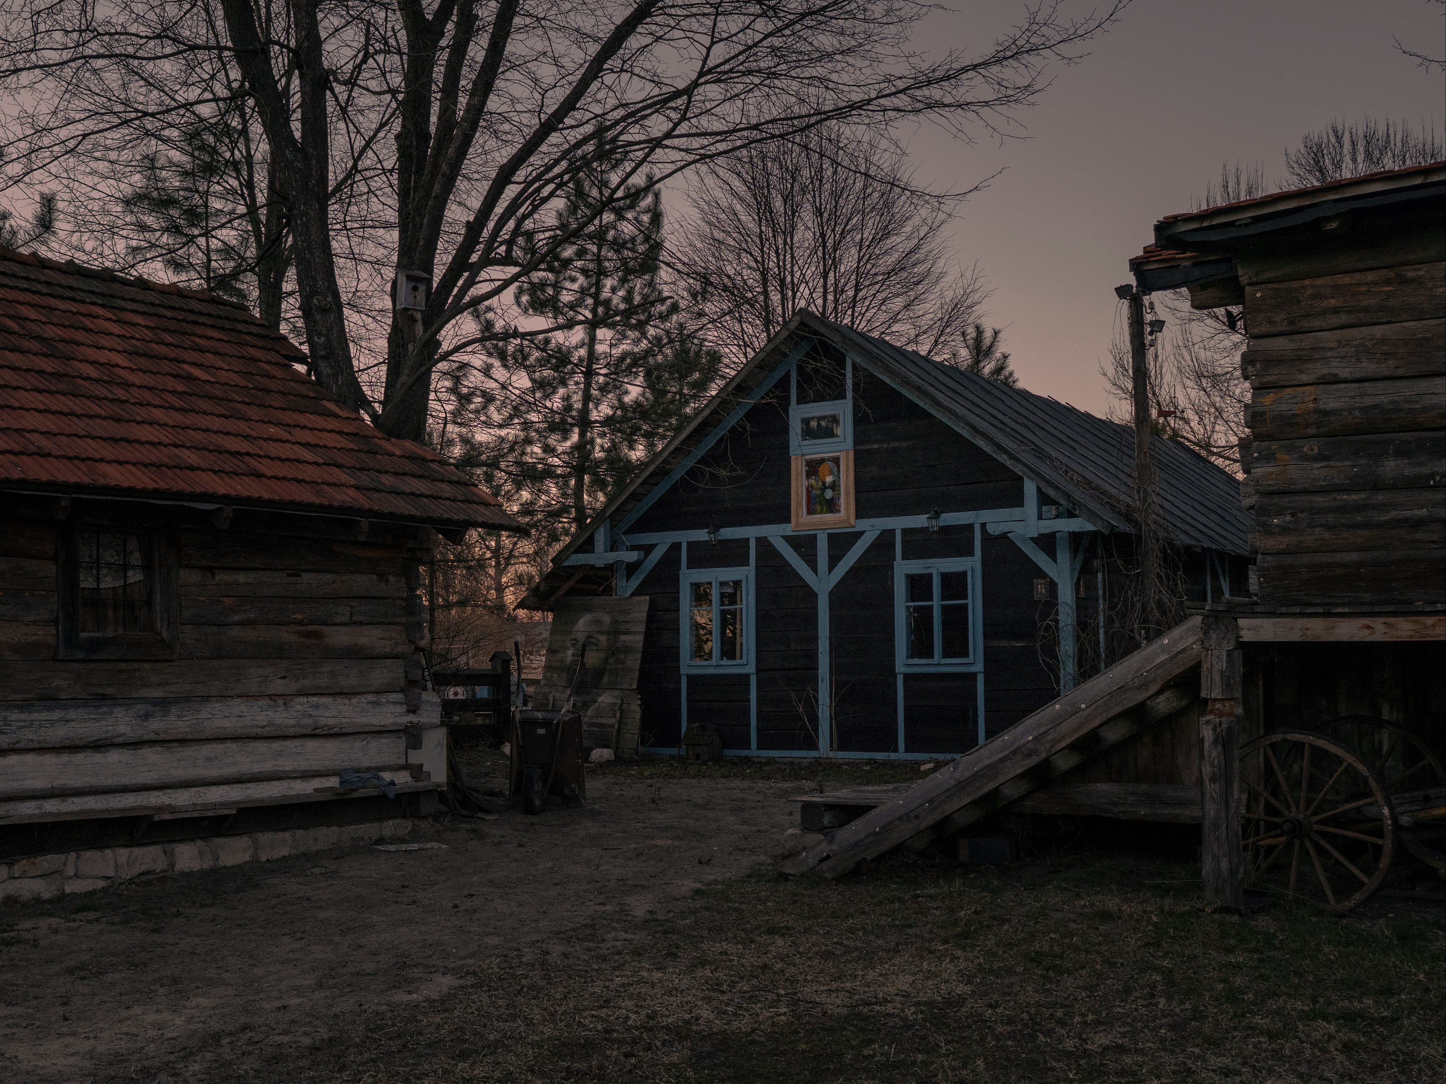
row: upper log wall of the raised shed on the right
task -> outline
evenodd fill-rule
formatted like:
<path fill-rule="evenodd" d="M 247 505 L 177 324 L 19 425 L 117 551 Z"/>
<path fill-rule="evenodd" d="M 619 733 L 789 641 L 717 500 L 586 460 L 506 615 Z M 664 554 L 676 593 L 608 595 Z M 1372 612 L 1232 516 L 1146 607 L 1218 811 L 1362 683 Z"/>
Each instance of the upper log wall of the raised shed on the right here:
<path fill-rule="evenodd" d="M 1446 603 L 1446 227 L 1296 244 L 1236 254 L 1261 603 Z"/>

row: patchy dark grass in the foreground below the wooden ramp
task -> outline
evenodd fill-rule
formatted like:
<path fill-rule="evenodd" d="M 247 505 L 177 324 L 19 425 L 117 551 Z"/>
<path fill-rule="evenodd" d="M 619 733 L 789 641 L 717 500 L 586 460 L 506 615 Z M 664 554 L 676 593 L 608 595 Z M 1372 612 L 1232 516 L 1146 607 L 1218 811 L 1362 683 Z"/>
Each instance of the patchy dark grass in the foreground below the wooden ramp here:
<path fill-rule="evenodd" d="M 1200 906 L 1186 857 L 771 874 L 667 918 L 512 950 L 236 1081 L 1446 1078 L 1442 912 Z M 275 1057 L 275 1055 L 273 1055 Z"/>

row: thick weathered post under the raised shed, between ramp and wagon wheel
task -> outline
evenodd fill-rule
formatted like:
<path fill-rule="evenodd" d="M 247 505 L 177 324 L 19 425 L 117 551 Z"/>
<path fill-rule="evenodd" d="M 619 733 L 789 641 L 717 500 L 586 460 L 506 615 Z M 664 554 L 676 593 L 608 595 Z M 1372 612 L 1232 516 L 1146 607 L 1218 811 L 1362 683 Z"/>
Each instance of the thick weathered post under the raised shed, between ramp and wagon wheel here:
<path fill-rule="evenodd" d="M 1241 856 L 1241 649 L 1233 617 L 1202 619 L 1200 872 L 1205 896 L 1226 911 L 1245 906 Z"/>

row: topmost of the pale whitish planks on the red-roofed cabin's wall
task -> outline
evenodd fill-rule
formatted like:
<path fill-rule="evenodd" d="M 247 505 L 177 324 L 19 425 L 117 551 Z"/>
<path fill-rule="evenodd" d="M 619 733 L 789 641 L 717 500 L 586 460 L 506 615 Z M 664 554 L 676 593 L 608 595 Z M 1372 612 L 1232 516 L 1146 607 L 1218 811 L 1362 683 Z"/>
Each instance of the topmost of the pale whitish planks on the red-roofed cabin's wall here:
<path fill-rule="evenodd" d="M 136 741 L 356 734 L 434 727 L 441 701 L 409 715 L 401 692 L 340 697 L 188 697 L 61 700 L 10 704 L 0 713 L 0 750 L 74 749 Z"/>

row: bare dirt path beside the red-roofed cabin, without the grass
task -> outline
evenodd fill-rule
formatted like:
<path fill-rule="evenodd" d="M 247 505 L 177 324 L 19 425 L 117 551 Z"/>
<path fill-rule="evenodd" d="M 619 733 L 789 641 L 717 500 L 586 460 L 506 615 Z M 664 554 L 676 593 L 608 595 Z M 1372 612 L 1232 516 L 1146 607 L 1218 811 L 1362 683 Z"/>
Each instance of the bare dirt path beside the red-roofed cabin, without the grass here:
<path fill-rule="evenodd" d="M 479 782 L 479 780 L 474 780 Z M 445 994 L 502 951 L 635 937 L 779 853 L 797 782 L 594 775 L 583 808 L 0 909 L 0 1080 L 208 1075 Z M 12 1075 L 13 1074 L 13 1075 Z"/>

